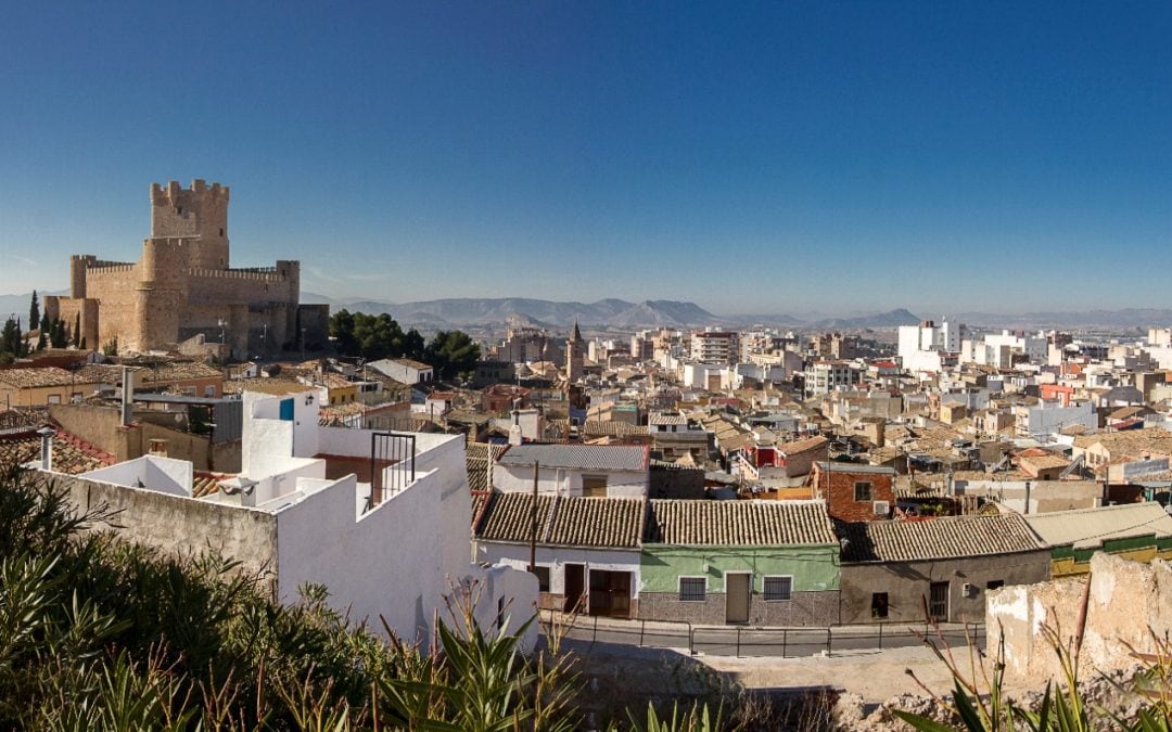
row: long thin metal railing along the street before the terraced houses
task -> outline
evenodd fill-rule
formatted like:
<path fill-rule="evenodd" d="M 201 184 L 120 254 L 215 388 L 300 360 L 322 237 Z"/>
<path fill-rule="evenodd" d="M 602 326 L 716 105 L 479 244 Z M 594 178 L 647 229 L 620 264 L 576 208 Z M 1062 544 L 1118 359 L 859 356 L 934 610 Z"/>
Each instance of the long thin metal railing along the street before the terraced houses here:
<path fill-rule="evenodd" d="M 560 614 L 558 614 L 560 616 Z M 541 631 L 553 632 L 554 614 L 543 614 Z M 797 658 L 836 652 L 883 650 L 921 645 L 925 638 L 942 639 L 953 648 L 984 647 L 984 623 L 950 623 L 933 628 L 925 623 L 874 623 L 829 628 L 763 628 L 754 625 L 694 625 L 669 621 L 616 621 L 578 616 L 561 621 L 564 637 L 590 643 L 641 648 L 688 649 L 691 655 L 771 656 Z"/>

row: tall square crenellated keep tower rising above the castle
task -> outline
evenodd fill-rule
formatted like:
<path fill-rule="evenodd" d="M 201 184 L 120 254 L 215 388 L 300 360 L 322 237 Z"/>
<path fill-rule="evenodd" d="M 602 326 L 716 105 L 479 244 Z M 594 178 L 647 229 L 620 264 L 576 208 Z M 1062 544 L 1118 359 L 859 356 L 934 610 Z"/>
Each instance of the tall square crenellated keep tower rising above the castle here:
<path fill-rule="evenodd" d="M 192 240 L 189 267 L 226 269 L 229 265 L 229 186 L 195 179 L 190 189 L 172 180 L 150 186 L 150 233 Z"/>

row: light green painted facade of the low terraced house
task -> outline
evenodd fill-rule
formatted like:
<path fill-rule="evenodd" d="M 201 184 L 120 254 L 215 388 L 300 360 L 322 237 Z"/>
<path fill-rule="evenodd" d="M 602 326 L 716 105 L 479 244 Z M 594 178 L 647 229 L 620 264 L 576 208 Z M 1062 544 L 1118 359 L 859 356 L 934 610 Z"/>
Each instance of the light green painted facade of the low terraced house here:
<path fill-rule="evenodd" d="M 752 589 L 764 591 L 766 575 L 793 577 L 793 591 L 837 590 L 837 543 L 776 547 L 645 545 L 639 560 L 640 591 L 675 593 L 680 577 L 708 577 L 709 593 L 724 591 L 724 573 L 751 572 Z"/>

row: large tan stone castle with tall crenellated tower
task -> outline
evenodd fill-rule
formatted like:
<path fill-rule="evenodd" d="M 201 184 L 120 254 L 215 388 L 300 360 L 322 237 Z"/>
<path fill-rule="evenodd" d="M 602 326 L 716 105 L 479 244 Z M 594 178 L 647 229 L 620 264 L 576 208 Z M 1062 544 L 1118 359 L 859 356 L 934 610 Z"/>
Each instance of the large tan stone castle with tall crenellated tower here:
<path fill-rule="evenodd" d="M 80 323 L 89 348 L 116 342 L 120 353 L 218 344 L 222 356 L 248 357 L 322 342 L 328 308 L 298 305 L 300 262 L 229 267 L 227 204 L 218 183 L 151 184 L 142 259 L 74 254 L 70 296 L 46 296 L 46 314 Z"/>

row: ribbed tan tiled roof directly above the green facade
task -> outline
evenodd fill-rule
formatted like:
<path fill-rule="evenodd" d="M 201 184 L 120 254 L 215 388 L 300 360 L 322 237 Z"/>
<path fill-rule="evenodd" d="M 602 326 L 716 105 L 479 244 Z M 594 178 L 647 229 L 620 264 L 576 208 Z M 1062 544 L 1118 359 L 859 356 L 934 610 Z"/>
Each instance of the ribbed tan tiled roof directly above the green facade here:
<path fill-rule="evenodd" d="M 784 546 L 836 543 L 822 501 L 649 501 L 646 543 Z"/>

